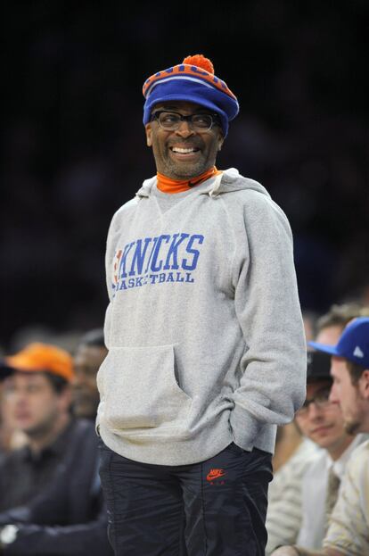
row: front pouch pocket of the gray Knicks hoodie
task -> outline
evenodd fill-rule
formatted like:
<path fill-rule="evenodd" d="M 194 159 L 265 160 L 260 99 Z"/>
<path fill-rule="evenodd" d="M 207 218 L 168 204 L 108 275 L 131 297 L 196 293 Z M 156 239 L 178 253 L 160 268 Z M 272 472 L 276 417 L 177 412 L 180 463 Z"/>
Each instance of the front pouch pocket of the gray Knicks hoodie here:
<path fill-rule="evenodd" d="M 192 399 L 176 382 L 173 345 L 111 348 L 102 367 L 104 420 L 112 432 L 184 427 Z"/>

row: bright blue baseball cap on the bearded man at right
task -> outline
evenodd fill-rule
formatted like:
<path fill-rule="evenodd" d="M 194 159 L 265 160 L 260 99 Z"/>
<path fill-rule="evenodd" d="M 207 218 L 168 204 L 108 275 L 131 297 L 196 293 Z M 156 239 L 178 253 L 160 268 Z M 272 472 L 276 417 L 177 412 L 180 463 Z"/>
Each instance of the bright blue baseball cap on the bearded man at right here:
<path fill-rule="evenodd" d="M 343 357 L 369 369 L 369 318 L 358 317 L 343 330 L 337 345 L 308 342 L 319 352 Z"/>

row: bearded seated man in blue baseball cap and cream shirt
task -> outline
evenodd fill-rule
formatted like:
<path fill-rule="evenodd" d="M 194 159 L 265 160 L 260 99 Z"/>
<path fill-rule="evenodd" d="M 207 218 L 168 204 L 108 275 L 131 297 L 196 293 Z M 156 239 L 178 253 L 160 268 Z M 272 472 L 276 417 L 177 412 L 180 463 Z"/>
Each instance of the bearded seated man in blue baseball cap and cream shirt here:
<path fill-rule="evenodd" d="M 369 318 L 350 322 L 337 345 L 310 345 L 332 355 L 330 401 L 339 403 L 348 434 L 369 433 Z M 274 556 L 364 556 L 369 554 L 369 441 L 358 446 L 346 466 L 332 510 L 324 548 L 283 546 Z"/>

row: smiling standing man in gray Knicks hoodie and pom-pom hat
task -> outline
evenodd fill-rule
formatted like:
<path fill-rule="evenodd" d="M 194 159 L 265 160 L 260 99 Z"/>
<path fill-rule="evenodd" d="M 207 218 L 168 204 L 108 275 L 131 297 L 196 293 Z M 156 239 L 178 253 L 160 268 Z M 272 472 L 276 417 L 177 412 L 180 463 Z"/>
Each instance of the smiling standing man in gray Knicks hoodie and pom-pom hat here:
<path fill-rule="evenodd" d="M 237 99 L 201 54 L 143 85 L 157 175 L 114 215 L 97 376 L 116 555 L 264 554 L 276 425 L 305 399 L 292 238 L 215 167 Z"/>

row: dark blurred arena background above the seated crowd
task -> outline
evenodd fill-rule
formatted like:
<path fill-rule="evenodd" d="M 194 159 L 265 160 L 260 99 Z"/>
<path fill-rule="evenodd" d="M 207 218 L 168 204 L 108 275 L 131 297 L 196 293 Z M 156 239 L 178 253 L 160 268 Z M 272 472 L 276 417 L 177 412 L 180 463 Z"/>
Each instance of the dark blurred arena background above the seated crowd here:
<path fill-rule="evenodd" d="M 239 98 L 217 167 L 287 213 L 303 309 L 369 299 L 367 0 L 2 5 L 5 349 L 102 324 L 111 216 L 155 173 L 143 80 L 188 54 Z"/>

